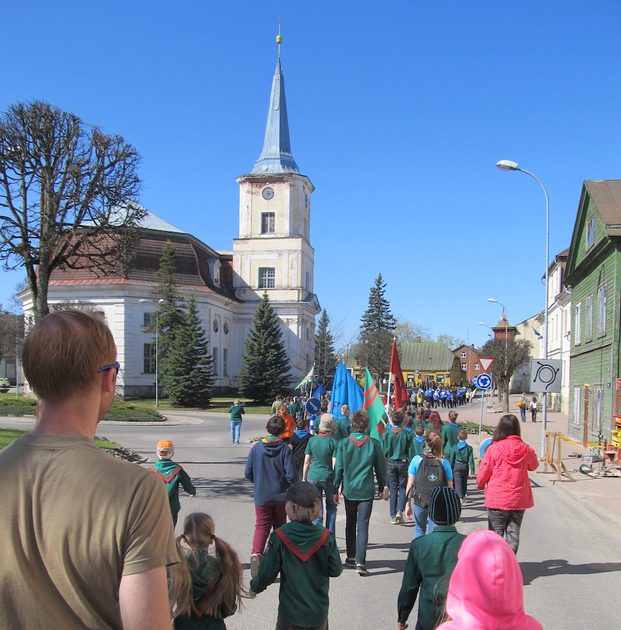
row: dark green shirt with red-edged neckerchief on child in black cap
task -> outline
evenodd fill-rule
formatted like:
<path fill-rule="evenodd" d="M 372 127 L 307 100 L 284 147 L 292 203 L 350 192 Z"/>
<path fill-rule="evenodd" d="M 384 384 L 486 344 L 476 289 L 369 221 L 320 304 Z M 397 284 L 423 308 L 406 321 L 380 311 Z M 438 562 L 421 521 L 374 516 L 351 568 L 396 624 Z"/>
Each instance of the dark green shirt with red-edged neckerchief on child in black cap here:
<path fill-rule="evenodd" d="M 250 582 L 253 593 L 264 591 L 280 572 L 278 612 L 303 628 L 328 618 L 330 577 L 343 573 L 336 539 L 320 524 L 291 521 L 273 531 Z"/>

